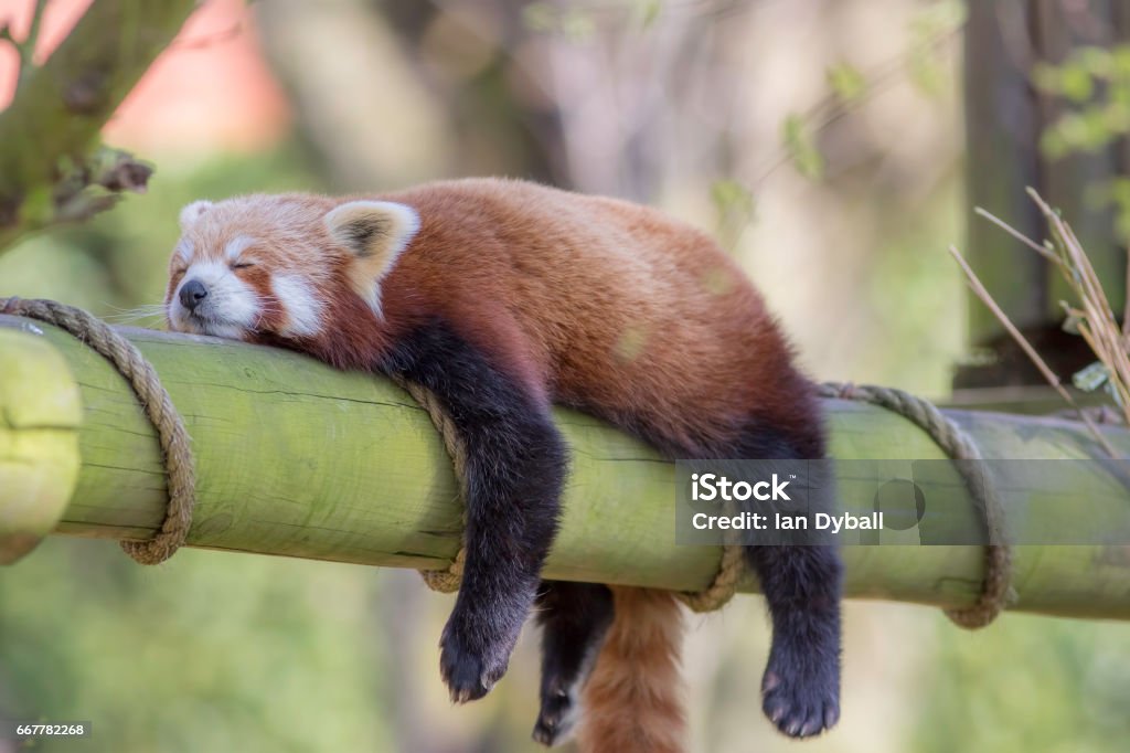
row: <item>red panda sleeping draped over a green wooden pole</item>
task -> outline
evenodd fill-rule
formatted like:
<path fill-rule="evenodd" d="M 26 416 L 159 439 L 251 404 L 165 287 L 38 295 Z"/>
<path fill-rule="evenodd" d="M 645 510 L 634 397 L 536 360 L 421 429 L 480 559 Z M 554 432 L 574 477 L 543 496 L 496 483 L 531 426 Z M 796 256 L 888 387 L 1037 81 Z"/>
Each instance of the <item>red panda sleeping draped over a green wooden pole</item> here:
<path fill-rule="evenodd" d="M 492 689 L 536 606 L 537 741 L 565 739 L 581 701 L 582 750 L 683 750 L 673 596 L 541 580 L 567 465 L 549 409 L 671 458 L 823 458 L 815 390 L 715 243 L 646 207 L 495 179 L 198 201 L 181 225 L 172 329 L 399 374 L 462 433 L 467 562 L 440 643 L 452 699 Z M 816 735 L 840 713 L 838 554 L 746 554 L 773 623 L 763 709 Z"/>

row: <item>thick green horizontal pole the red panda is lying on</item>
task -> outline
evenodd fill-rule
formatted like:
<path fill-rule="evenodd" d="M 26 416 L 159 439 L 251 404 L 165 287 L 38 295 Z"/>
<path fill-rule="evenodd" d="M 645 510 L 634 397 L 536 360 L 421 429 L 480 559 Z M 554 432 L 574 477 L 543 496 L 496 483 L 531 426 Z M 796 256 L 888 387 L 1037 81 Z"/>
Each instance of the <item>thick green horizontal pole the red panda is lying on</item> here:
<path fill-rule="evenodd" d="M 0 331 L 18 327 L 27 322 L 0 317 Z M 81 425 L 56 429 L 77 438 L 80 466 L 54 533 L 150 535 L 162 520 L 165 478 L 137 400 L 101 356 L 53 327 L 36 327 L 40 337 L 0 339 L 0 364 L 24 363 L 49 344 L 78 384 Z M 427 415 L 399 388 L 293 353 L 120 331 L 154 364 L 193 439 L 199 482 L 189 545 L 418 569 L 444 568 L 454 555 L 461 526 L 451 464 Z M 50 403 L 70 382 L 29 376 L 16 383 Z M 0 415 L 14 399 L 28 398 L 0 389 Z M 849 401 L 826 405 L 837 458 L 944 458 L 897 415 Z M 988 457 L 1095 457 L 1094 443 L 1070 422 L 949 415 Z M 710 582 L 719 549 L 673 544 L 673 467 L 593 418 L 564 409 L 556 418 L 573 465 L 547 574 L 672 589 Z M 17 435 L 25 431 L 18 422 L 2 425 Z M 1127 432 L 1111 431 L 1110 439 L 1130 450 Z M 0 443 L 0 468 L 12 459 L 7 447 Z M 54 462 L 47 453 L 40 461 Z M 1120 493 L 1130 509 L 1130 492 Z M 0 486 L 0 521 L 20 504 L 26 500 L 18 488 Z M 0 529 L 0 537 L 6 533 Z M 844 556 L 853 597 L 954 607 L 980 588 L 977 547 L 849 546 Z M 1014 583 L 1016 609 L 1130 618 L 1130 547 L 1017 547 Z"/>

